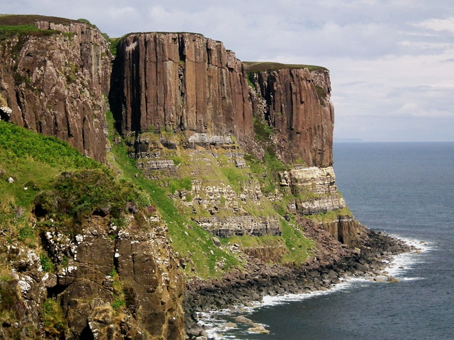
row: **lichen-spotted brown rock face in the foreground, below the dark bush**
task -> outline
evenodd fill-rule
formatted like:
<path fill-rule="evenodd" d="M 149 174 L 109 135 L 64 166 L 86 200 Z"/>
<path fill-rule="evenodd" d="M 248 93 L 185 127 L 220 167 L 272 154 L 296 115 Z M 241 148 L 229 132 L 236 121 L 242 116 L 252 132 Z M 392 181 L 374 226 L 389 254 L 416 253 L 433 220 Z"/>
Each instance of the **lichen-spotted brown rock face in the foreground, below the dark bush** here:
<path fill-rule="evenodd" d="M 147 229 L 131 225 L 112 234 L 115 229 L 108 217 L 91 216 L 75 241 L 47 231 L 47 251 L 56 262 L 66 261 L 56 275 L 43 272 L 33 250 L 10 246 L 22 293 L 17 303 L 38 323 L 39 306 L 56 297 L 65 339 L 141 339 L 137 335 L 144 331 L 184 339 L 183 281 L 166 227 L 155 218 Z"/>

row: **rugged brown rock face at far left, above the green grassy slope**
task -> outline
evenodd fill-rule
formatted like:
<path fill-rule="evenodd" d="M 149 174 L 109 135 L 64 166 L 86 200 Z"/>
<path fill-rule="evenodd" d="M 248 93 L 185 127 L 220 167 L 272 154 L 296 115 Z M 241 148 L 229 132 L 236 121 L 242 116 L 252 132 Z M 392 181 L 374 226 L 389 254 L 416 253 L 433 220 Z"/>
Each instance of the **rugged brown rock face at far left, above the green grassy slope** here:
<path fill-rule="evenodd" d="M 78 21 L 35 25 L 43 31 L 0 41 L 0 96 L 12 110 L 9 120 L 104 160 L 107 41 Z"/>

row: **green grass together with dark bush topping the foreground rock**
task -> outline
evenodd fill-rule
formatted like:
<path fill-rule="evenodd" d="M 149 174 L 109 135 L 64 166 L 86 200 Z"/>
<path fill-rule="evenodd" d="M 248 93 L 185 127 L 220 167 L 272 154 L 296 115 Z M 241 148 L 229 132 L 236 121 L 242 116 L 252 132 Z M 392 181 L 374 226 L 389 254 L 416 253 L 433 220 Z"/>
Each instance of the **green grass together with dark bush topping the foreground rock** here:
<path fill-rule="evenodd" d="M 145 225 L 141 216 L 147 216 L 151 204 L 133 183 L 117 181 L 109 168 L 67 142 L 7 122 L 0 122 L 0 196 L 0 242 L 17 240 L 32 248 L 50 227 L 50 218 L 74 236 L 94 212 L 122 221 L 130 207 L 138 210 L 136 222 Z M 40 216 L 32 229 L 35 208 Z"/>

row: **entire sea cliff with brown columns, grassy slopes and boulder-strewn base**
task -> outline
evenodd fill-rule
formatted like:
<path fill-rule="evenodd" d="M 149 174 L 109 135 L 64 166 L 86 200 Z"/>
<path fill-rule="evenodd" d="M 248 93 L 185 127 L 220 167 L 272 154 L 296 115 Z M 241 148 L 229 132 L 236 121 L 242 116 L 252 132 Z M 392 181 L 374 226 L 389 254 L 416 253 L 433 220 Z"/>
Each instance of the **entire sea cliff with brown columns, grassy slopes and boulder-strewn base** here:
<path fill-rule="evenodd" d="M 203 336 L 405 249 L 336 188 L 323 67 L 47 16 L 0 16 L 0 55 L 0 339 Z"/>

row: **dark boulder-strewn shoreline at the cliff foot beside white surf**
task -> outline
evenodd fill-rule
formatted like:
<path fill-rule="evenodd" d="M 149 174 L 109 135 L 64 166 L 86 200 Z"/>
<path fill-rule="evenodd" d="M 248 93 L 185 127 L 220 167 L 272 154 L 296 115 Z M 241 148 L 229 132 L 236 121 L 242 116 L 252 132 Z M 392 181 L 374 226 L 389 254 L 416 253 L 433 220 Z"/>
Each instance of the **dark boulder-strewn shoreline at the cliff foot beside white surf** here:
<path fill-rule="evenodd" d="M 327 244 L 336 245 L 338 241 L 327 237 L 323 229 L 315 225 L 309 229 L 305 234 L 314 234 L 312 236 L 318 238 L 318 248 L 314 251 L 314 258 L 303 265 L 270 266 L 257 258 L 248 258 L 244 271 L 238 269 L 215 280 L 189 280 L 184 299 L 188 339 L 208 339 L 206 327 L 199 323 L 199 312 L 250 306 L 266 295 L 324 291 L 347 277 L 368 276 L 375 277 L 374 280 L 397 282 L 386 274 L 383 279 L 383 271 L 393 256 L 415 251 L 415 247 L 403 240 L 364 228 L 358 247 L 340 245 L 329 254 L 326 252 Z"/>

